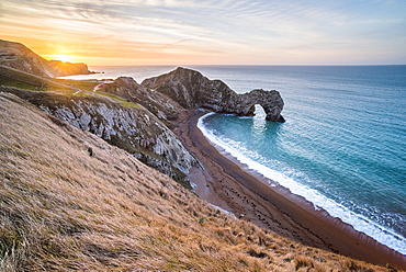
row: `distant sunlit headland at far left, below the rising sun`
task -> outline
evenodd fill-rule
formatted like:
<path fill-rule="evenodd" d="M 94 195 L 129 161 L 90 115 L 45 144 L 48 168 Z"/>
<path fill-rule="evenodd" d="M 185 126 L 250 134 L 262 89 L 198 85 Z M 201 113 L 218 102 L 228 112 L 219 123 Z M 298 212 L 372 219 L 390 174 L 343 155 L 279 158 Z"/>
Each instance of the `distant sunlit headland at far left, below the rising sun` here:
<path fill-rule="evenodd" d="M 49 78 L 90 73 L 86 64 L 46 60 L 20 43 L 2 39 L 0 39 L 0 65 Z"/>

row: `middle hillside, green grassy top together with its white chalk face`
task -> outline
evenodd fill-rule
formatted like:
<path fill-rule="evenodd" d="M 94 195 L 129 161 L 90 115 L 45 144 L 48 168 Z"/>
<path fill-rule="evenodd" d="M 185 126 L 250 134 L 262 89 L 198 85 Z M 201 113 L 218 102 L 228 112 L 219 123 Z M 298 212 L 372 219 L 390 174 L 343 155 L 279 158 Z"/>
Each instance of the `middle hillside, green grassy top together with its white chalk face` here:
<path fill-rule="evenodd" d="M 187 173 L 199 162 L 165 123 L 137 103 L 148 94 L 137 95 L 132 102 L 100 88 L 110 84 L 46 79 L 0 66 L 0 91 L 11 92 L 75 127 L 95 134 L 191 189 Z M 168 104 L 165 98 L 161 101 Z"/>

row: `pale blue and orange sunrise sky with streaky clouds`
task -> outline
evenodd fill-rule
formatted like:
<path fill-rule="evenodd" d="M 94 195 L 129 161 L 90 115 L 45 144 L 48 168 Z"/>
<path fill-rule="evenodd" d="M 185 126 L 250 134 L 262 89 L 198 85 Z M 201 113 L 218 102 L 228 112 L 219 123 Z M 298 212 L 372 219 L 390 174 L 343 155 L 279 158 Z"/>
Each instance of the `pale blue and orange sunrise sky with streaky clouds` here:
<path fill-rule="evenodd" d="M 1 0 L 0 39 L 89 66 L 397 65 L 406 1 Z"/>

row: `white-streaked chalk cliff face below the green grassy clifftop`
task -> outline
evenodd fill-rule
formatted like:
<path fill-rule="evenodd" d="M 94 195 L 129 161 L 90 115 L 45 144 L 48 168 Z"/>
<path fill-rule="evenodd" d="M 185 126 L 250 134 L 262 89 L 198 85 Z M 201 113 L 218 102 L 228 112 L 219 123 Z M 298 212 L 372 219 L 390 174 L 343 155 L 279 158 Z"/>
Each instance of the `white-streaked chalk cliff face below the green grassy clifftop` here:
<path fill-rule="evenodd" d="M 176 135 L 143 106 L 124 106 L 92 95 L 63 95 L 0 87 L 75 127 L 88 131 L 133 154 L 181 184 L 192 166 L 200 167 Z"/>

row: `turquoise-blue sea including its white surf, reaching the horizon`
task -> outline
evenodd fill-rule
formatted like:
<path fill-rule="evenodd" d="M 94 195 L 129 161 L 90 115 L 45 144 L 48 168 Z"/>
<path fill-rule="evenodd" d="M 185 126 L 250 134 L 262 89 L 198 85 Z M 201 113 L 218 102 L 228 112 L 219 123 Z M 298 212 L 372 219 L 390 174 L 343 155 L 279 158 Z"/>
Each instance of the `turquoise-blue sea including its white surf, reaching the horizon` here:
<path fill-rule="evenodd" d="M 91 67 L 145 78 L 176 67 Z M 406 254 L 406 66 L 189 66 L 237 93 L 277 90 L 285 123 L 206 114 L 199 128 L 248 170 Z"/>

